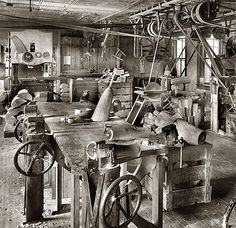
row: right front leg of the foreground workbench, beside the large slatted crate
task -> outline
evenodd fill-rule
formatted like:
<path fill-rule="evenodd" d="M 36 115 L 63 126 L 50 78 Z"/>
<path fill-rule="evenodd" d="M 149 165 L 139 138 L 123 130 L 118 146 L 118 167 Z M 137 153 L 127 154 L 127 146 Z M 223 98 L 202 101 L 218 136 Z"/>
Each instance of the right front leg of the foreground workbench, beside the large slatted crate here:
<path fill-rule="evenodd" d="M 163 181 L 165 174 L 165 159 L 160 155 L 153 169 L 152 183 L 152 222 L 158 228 L 163 227 Z"/>

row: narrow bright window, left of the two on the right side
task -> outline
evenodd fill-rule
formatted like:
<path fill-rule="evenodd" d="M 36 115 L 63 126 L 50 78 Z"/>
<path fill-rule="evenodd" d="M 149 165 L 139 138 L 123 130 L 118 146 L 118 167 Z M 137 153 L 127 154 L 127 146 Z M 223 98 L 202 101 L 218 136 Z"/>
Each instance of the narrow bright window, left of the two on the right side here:
<path fill-rule="evenodd" d="M 175 50 L 175 58 L 179 58 L 176 63 L 177 75 L 185 76 L 186 72 L 183 72 L 185 69 L 185 57 L 186 57 L 186 49 L 185 49 L 185 37 L 179 37 L 176 41 L 176 50 Z M 183 72 L 183 73 L 182 73 Z"/>

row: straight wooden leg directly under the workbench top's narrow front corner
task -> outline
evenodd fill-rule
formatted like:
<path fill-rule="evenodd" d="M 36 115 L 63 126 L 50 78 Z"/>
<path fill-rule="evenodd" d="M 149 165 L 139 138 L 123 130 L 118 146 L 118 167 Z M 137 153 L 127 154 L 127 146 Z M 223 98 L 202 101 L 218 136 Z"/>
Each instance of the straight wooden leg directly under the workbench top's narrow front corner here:
<path fill-rule="evenodd" d="M 80 227 L 80 175 L 71 174 L 71 227 Z"/>

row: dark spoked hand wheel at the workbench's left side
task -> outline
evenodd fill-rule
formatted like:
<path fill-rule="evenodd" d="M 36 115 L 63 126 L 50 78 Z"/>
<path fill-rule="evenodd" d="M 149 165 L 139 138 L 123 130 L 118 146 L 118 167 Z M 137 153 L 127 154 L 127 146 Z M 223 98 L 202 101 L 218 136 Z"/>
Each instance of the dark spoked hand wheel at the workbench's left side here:
<path fill-rule="evenodd" d="M 23 175 L 33 177 L 46 173 L 55 161 L 55 153 L 45 142 L 28 141 L 14 157 L 16 169 Z"/>

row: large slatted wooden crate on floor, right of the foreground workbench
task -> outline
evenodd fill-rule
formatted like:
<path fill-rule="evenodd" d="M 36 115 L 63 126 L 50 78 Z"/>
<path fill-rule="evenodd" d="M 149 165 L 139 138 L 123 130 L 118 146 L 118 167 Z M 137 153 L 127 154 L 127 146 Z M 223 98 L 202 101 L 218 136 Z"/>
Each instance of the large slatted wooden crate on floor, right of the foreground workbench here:
<path fill-rule="evenodd" d="M 165 169 L 163 187 L 164 210 L 211 202 L 211 151 L 212 145 L 208 143 L 185 146 L 183 168 L 179 168 L 180 148 L 168 148 L 168 164 Z M 145 177 L 145 187 L 151 194 L 151 173 Z"/>

